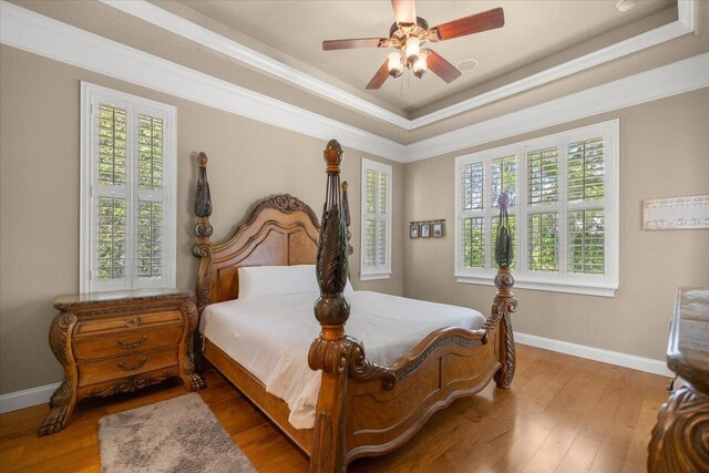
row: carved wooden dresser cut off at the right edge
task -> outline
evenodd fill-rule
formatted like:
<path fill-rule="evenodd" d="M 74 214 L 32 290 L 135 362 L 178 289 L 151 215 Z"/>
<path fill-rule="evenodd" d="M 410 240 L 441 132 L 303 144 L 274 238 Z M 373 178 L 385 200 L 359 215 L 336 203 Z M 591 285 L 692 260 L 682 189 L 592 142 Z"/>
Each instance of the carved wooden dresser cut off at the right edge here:
<path fill-rule="evenodd" d="M 681 288 L 667 366 L 677 373 L 649 444 L 651 473 L 709 472 L 709 290 Z"/>

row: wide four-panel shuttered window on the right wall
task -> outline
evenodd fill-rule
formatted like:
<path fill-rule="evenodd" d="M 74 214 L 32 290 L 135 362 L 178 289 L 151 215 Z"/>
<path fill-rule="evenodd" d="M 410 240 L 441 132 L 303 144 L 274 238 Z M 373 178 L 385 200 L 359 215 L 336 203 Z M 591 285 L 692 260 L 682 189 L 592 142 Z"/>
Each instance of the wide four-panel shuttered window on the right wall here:
<path fill-rule="evenodd" d="M 492 284 L 497 197 L 510 194 L 516 287 L 614 296 L 618 121 L 455 160 L 455 277 Z"/>

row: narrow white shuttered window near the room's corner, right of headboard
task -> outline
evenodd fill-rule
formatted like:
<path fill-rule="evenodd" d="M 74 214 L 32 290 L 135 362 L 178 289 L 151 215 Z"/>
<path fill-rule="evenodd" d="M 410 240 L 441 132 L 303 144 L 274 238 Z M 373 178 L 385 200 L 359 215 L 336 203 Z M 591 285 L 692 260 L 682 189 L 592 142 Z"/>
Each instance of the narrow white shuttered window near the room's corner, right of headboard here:
<path fill-rule="evenodd" d="M 362 158 L 360 280 L 391 276 L 391 166 Z"/>

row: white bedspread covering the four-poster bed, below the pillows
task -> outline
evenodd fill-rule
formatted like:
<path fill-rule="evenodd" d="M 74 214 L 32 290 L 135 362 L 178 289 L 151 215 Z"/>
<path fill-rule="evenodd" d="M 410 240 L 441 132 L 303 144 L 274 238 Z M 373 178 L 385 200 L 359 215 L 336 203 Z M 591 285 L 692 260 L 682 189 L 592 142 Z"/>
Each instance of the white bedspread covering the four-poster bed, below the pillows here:
<path fill-rule="evenodd" d="M 261 296 L 208 306 L 199 331 L 285 400 L 288 421 L 310 429 L 320 391 L 319 371 L 308 367 L 308 349 L 320 332 L 312 306 L 319 294 Z M 379 292 L 347 294 L 347 333 L 364 345 L 367 359 L 391 364 L 441 327 L 479 329 L 482 313 Z"/>

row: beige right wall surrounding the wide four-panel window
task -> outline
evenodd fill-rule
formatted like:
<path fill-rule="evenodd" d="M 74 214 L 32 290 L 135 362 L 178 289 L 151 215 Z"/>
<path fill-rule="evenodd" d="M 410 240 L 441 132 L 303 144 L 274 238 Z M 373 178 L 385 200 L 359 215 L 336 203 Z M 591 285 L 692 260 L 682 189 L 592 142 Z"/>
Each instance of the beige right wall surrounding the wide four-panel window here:
<path fill-rule="evenodd" d="M 441 239 L 404 239 L 404 296 L 487 311 L 494 288 L 453 278 L 454 160 L 620 120 L 620 287 L 614 298 L 515 290 L 514 328 L 661 360 L 678 286 L 709 287 L 709 230 L 643 232 L 644 198 L 709 194 L 709 89 L 597 115 L 405 166 L 404 222 L 445 218 Z"/>

